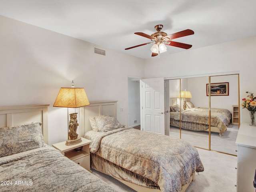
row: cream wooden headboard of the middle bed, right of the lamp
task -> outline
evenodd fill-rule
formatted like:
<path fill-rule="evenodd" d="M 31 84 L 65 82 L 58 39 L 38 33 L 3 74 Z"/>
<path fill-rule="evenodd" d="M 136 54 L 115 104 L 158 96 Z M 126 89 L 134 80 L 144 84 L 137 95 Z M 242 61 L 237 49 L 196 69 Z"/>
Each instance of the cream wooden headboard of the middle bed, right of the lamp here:
<path fill-rule="evenodd" d="M 116 117 L 117 101 L 90 101 L 90 105 L 80 108 L 80 136 L 92 130 L 89 116 L 110 115 Z"/>

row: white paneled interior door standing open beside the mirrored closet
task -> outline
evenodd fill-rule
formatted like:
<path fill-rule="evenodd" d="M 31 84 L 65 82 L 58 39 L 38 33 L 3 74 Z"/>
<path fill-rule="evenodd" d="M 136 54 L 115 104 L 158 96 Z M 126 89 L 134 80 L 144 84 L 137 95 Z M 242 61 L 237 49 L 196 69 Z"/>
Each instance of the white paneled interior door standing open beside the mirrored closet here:
<path fill-rule="evenodd" d="M 140 128 L 164 134 L 164 78 L 140 80 Z"/>

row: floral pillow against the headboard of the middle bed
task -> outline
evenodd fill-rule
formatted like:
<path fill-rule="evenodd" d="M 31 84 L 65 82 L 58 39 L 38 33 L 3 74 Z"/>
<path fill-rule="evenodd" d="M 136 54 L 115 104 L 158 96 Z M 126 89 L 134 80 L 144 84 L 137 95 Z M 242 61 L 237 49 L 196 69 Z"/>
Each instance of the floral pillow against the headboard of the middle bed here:
<path fill-rule="evenodd" d="M 121 128 L 122 125 L 115 117 L 111 116 L 97 116 L 94 117 L 96 124 L 98 125 L 98 129 L 100 132 L 107 132 L 113 129 Z"/>

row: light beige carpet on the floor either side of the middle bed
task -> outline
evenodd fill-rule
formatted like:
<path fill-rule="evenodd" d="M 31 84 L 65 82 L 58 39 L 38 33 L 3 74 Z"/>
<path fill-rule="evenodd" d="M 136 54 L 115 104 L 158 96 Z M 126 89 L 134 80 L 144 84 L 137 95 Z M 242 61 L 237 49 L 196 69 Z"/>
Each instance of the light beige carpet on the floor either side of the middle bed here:
<path fill-rule="evenodd" d="M 200 148 L 197 150 L 204 164 L 204 172 L 196 173 L 196 180 L 186 192 L 236 192 L 237 157 Z M 92 170 L 92 173 L 118 192 L 135 192 L 111 176 L 96 170 Z"/>

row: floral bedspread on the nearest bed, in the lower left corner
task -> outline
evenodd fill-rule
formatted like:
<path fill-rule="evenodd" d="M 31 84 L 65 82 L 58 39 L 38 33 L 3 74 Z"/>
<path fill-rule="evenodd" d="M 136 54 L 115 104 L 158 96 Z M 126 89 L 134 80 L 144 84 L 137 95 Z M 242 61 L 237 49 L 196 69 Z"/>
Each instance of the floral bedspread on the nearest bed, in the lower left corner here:
<path fill-rule="evenodd" d="M 0 181 L 0 192 L 116 192 L 50 146 L 0 158 Z"/>

